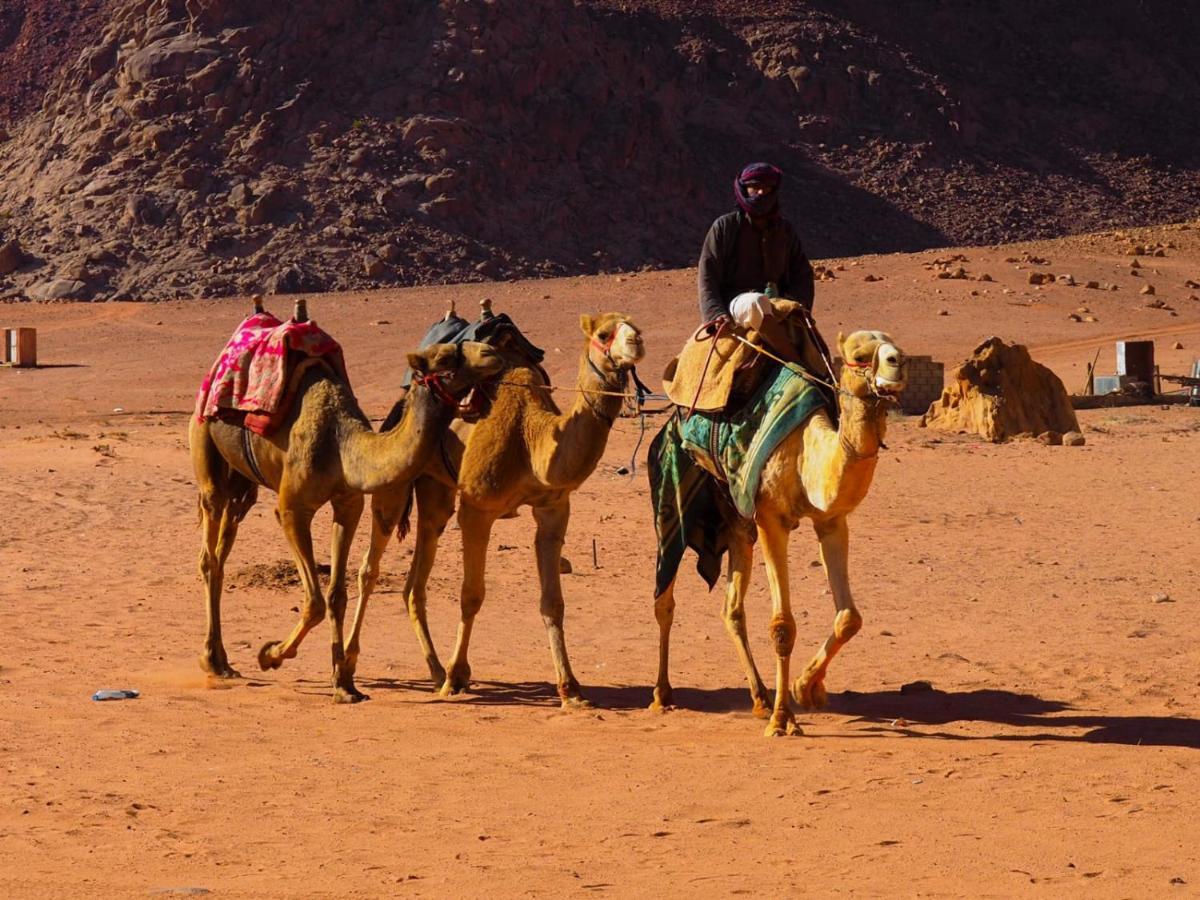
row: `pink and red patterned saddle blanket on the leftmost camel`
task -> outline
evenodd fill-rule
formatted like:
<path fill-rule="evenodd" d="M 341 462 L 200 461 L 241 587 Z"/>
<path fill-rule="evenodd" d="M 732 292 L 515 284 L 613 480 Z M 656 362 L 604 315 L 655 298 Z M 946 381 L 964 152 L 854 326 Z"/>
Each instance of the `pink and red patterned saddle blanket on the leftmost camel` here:
<path fill-rule="evenodd" d="M 196 395 L 196 418 L 241 420 L 269 434 L 295 398 L 298 376 L 325 362 L 349 385 L 341 344 L 314 322 L 280 322 L 259 312 L 242 322 Z"/>

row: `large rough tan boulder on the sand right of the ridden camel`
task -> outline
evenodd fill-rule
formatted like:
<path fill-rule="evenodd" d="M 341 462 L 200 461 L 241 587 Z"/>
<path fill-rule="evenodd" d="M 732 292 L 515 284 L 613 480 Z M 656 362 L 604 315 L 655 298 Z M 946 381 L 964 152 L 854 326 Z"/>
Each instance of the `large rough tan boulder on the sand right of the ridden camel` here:
<path fill-rule="evenodd" d="M 942 431 L 979 434 L 1000 443 L 1032 432 L 1079 431 L 1062 380 L 1034 362 L 1021 344 L 989 337 L 949 378 L 922 424 Z"/>

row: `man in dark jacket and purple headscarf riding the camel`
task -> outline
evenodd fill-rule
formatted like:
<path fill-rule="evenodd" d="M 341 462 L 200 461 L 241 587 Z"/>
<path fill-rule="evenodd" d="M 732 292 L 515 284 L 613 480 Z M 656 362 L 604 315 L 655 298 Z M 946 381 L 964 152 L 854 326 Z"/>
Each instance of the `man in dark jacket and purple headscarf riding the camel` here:
<path fill-rule="evenodd" d="M 812 311 L 812 266 L 792 223 L 779 211 L 784 173 L 754 162 L 733 181 L 739 209 L 708 229 L 700 252 L 700 317 L 754 329 L 776 350 L 794 358 L 770 298 L 796 300 Z"/>

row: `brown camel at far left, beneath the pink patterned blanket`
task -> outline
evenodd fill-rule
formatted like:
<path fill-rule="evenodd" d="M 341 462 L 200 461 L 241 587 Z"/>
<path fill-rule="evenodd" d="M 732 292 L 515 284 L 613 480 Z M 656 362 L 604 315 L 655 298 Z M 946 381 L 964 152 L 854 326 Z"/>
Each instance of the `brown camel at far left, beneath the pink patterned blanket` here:
<path fill-rule="evenodd" d="M 354 703 L 366 695 L 354 686 L 344 665 L 342 624 L 346 616 L 346 563 L 362 514 L 365 493 L 407 484 L 430 460 L 438 436 L 454 419 L 458 400 L 470 388 L 497 376 L 504 366 L 487 344 L 433 344 L 408 354 L 416 373 L 403 418 L 392 431 L 377 434 L 349 386 L 331 370 L 318 366 L 301 377 L 290 413 L 268 438 L 220 420 L 192 418 L 188 428 L 192 464 L 199 488 L 200 577 L 205 586 L 208 634 L 200 667 L 218 678 L 238 678 L 221 640 L 221 589 L 224 564 L 238 526 L 258 499 L 263 485 L 278 494 L 275 517 L 292 547 L 305 602 L 300 622 L 284 641 L 270 641 L 258 652 L 263 670 L 278 668 L 296 655 L 305 635 L 325 617 L 312 550 L 312 518 L 326 503 L 334 508 L 334 534 L 328 592 L 332 625 L 334 700 Z M 248 454 L 247 454 L 248 448 Z"/>

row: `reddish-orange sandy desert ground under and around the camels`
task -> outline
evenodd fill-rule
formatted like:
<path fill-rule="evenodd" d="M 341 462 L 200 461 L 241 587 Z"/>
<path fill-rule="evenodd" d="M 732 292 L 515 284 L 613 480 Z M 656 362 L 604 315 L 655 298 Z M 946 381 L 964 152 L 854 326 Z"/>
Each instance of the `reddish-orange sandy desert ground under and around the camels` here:
<path fill-rule="evenodd" d="M 1200 301 L 1183 287 L 1200 278 L 1200 232 L 1147 234 L 1178 248 L 1144 257 L 1140 277 L 1111 236 L 965 250 L 990 284 L 934 280 L 922 263 L 948 251 L 842 260 L 838 281 L 818 286 L 818 318 L 830 336 L 883 328 L 948 364 L 997 334 L 1074 390 L 1097 348 L 1111 371 L 1122 337 L 1156 337 L 1163 371 L 1184 372 L 1200 350 Z M 1121 289 L 1030 288 L 1027 268 L 1003 262 L 1025 251 L 1052 260 L 1040 270 Z M 864 283 L 868 272 L 884 280 Z M 1144 307 L 1145 282 L 1176 317 Z M 382 415 L 402 352 L 449 298 L 464 308 L 484 295 L 564 378 L 581 311 L 634 314 L 646 374 L 695 319 L 686 271 L 317 296 L 310 308 Z M 286 299 L 272 305 L 287 312 Z M 1081 305 L 1099 322 L 1069 322 Z M 614 473 L 637 442 L 632 420 L 578 492 L 566 545 L 572 660 L 601 709 L 560 712 L 547 683 L 528 514 L 496 528 L 475 692 L 432 697 L 396 592 L 409 547 L 394 547 L 360 666 L 373 700 L 336 707 L 324 626 L 284 668 L 254 665 L 300 599 L 259 577 L 288 556 L 269 496 L 229 565 L 227 646 L 246 678 L 209 684 L 196 664 L 185 422 L 247 306 L 0 307 L 0 324 L 38 328 L 47 364 L 0 370 L 0 895 L 1174 896 L 1200 886 L 1200 410 L 1085 412 L 1084 448 L 994 446 L 898 421 L 852 524 L 866 624 L 832 668 L 830 710 L 802 716 L 805 737 L 761 737 L 720 595 L 690 565 L 673 644 L 685 708 L 644 710 L 653 528 L 642 466 Z M 443 656 L 457 546 L 451 529 L 431 586 Z M 832 604 L 811 536 L 797 532 L 792 547 L 803 662 Z M 361 550 L 360 532 L 355 560 Z M 764 582 L 750 604 L 760 662 L 770 659 Z M 917 679 L 936 691 L 899 694 Z M 98 688 L 143 696 L 92 703 Z"/>

